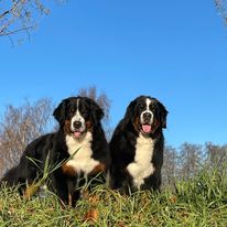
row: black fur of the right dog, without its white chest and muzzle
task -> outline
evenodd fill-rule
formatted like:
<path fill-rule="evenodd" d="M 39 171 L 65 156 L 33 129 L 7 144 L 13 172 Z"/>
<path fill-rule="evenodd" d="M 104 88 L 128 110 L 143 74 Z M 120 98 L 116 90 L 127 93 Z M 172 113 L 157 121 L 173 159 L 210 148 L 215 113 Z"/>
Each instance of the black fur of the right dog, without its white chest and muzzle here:
<path fill-rule="evenodd" d="M 149 133 L 141 133 L 140 115 L 144 111 L 145 99 L 151 100 L 150 110 L 153 114 L 153 122 Z M 165 107 L 155 98 L 140 96 L 132 100 L 126 111 L 123 119 L 118 123 L 109 143 L 111 164 L 109 170 L 109 185 L 112 190 L 121 193 L 130 193 L 137 190 L 160 190 L 161 167 L 163 164 L 164 137 L 162 129 L 166 128 Z M 133 184 L 133 177 L 127 170 L 131 163 L 136 163 L 137 140 L 143 134 L 154 141 L 151 163 L 154 172 L 144 179 L 140 188 Z"/>

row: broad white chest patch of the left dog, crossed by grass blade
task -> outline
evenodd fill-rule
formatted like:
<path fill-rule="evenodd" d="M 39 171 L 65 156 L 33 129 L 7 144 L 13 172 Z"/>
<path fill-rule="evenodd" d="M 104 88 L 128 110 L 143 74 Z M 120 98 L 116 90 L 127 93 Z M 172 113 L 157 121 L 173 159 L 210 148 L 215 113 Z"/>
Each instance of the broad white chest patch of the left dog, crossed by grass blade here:
<path fill-rule="evenodd" d="M 73 155 L 66 165 L 71 165 L 77 173 L 84 173 L 85 176 L 99 164 L 98 161 L 91 158 L 91 141 L 93 134 L 87 132 L 85 137 L 75 140 L 72 136 L 66 136 L 66 144 L 68 153 Z"/>

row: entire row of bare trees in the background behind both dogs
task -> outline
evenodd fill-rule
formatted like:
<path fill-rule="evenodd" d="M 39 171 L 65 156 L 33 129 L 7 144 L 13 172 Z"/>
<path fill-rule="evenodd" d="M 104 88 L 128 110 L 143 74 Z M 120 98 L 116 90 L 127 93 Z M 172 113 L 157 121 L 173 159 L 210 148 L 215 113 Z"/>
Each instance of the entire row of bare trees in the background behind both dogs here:
<path fill-rule="evenodd" d="M 98 94 L 96 87 L 80 89 L 78 94 L 95 99 L 104 109 L 102 126 L 107 139 L 111 137 L 110 100 L 105 93 Z M 29 142 L 41 134 L 56 130 L 58 127 L 52 117 L 54 102 L 50 98 L 33 104 L 25 100 L 20 107 L 8 105 L 0 120 L 0 177 L 19 159 Z M 216 145 L 207 142 L 203 145 L 183 143 L 180 148 L 165 145 L 162 171 L 163 187 L 174 187 L 175 180 L 188 180 L 201 170 L 212 171 L 224 167 L 227 163 L 227 144 Z"/>

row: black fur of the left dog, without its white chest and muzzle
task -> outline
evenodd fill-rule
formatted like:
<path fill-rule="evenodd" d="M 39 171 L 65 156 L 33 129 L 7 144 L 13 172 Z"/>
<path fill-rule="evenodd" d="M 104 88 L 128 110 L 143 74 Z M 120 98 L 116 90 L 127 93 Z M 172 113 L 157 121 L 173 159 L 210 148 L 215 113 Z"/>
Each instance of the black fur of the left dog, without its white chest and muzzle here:
<path fill-rule="evenodd" d="M 42 177 L 42 171 L 44 170 L 47 155 L 50 158 L 50 166 L 68 160 L 69 153 L 66 144 L 66 136 L 71 134 L 71 129 L 68 129 L 66 121 L 71 121 L 75 115 L 78 99 L 78 109 L 85 121 L 89 121 L 89 128 L 87 128 L 84 133 L 90 131 L 93 134 L 91 159 L 99 161 L 105 167 L 108 166 L 108 143 L 100 123 L 104 111 L 90 98 L 69 97 L 64 99 L 53 112 L 53 116 L 60 123 L 58 131 L 32 141 L 23 152 L 19 165 L 8 171 L 1 182 L 6 182 L 9 186 L 20 184 L 20 192 L 24 193 L 26 185 L 31 185 L 34 181 Z M 39 167 L 31 159 L 36 162 Z M 93 177 L 94 175 L 89 176 Z M 77 187 L 82 186 L 83 182 L 79 181 L 79 177 L 83 177 L 83 173 L 72 175 L 64 172 L 63 166 L 61 166 L 50 174 L 48 188 L 56 193 L 64 203 L 71 203 L 74 206 L 79 197 L 79 190 L 77 190 Z M 80 183 L 78 183 L 78 181 Z M 68 199 L 68 194 L 72 196 L 72 202 Z"/>

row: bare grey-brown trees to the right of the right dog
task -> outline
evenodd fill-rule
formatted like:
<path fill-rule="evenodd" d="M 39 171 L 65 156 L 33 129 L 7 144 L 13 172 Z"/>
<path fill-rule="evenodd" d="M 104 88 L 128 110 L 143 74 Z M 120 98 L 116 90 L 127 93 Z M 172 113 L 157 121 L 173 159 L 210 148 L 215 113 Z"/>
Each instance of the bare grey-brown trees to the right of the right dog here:
<path fill-rule="evenodd" d="M 227 166 L 227 144 L 183 143 L 180 148 L 165 145 L 162 171 L 163 186 L 174 187 L 176 180 L 190 180 L 201 171 L 223 171 Z"/>

